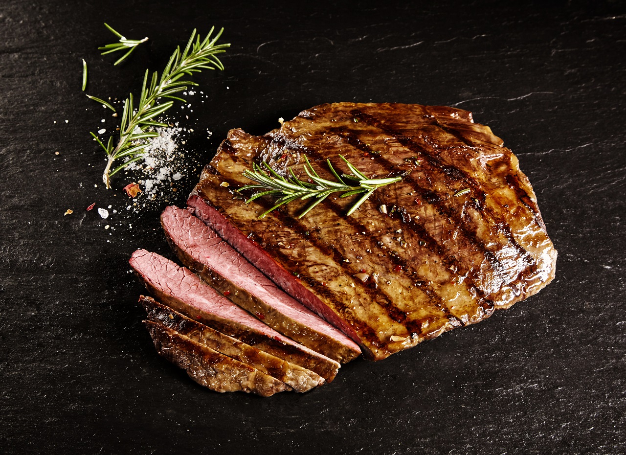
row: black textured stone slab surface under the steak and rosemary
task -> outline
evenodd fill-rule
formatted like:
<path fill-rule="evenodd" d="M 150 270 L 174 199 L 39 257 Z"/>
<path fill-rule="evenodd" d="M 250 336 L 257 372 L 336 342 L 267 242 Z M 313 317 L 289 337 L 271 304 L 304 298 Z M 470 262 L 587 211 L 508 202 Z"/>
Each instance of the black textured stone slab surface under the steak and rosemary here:
<path fill-rule="evenodd" d="M 626 4 L 271 5 L 0 2 L 0 452 L 625 453 Z M 104 21 L 150 41 L 114 68 L 96 50 L 114 41 Z M 557 278 L 481 324 L 356 360 L 307 394 L 197 386 L 156 355 L 127 273 L 135 248 L 171 257 L 165 204 L 118 216 L 113 235 L 85 212 L 123 207 L 128 178 L 100 183 L 88 131 L 103 110 L 81 93 L 81 58 L 87 93 L 125 96 L 212 24 L 232 48 L 225 71 L 197 77 L 205 103 L 192 101 L 188 121 L 173 111 L 196 131 L 185 159 L 208 162 L 229 128 L 264 133 L 329 101 L 458 106 L 519 157 Z"/>

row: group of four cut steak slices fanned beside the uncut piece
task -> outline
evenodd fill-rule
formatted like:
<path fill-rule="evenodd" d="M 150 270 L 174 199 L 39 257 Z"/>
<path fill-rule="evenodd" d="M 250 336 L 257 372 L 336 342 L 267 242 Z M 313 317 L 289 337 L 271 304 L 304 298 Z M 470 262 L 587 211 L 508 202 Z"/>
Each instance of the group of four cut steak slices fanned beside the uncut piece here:
<path fill-rule="evenodd" d="M 157 352 L 194 381 L 218 392 L 305 392 L 361 353 L 188 210 L 166 208 L 162 225 L 190 268 L 146 250 L 130 265 L 155 297 L 140 303 Z"/>

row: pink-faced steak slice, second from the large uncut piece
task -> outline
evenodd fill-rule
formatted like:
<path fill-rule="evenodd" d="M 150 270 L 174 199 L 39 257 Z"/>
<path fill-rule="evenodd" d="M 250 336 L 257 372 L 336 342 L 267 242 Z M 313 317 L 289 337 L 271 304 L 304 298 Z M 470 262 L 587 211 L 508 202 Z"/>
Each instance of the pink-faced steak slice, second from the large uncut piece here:
<path fill-rule="evenodd" d="M 268 327 L 244 309 L 219 295 L 185 267 L 146 250 L 137 250 L 130 265 L 155 297 L 191 319 L 299 365 L 331 382 L 340 364 L 297 344 Z"/>

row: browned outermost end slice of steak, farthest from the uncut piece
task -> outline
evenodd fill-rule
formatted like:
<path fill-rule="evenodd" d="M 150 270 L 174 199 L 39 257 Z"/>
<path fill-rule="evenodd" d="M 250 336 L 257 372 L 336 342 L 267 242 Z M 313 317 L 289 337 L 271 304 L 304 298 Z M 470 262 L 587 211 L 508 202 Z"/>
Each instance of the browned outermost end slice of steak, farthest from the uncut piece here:
<path fill-rule="evenodd" d="M 284 382 L 197 343 L 163 324 L 151 320 L 143 322 L 148 327 L 156 352 L 187 371 L 189 377 L 202 386 L 216 392 L 243 391 L 262 397 L 290 390 Z"/>

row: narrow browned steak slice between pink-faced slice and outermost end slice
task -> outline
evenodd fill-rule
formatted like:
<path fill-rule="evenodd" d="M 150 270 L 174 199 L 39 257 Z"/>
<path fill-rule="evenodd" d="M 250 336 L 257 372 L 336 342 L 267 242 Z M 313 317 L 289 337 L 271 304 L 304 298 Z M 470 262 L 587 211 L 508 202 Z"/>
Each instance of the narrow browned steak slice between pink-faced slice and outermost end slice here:
<path fill-rule="evenodd" d="M 316 373 L 285 362 L 274 355 L 267 354 L 260 349 L 252 347 L 239 340 L 224 335 L 207 325 L 201 324 L 179 312 L 162 305 L 151 297 L 140 298 L 140 303 L 148 313 L 148 320 L 165 325 L 168 329 L 175 330 L 178 334 L 185 335 L 189 339 L 210 347 L 221 354 L 228 355 L 232 359 L 239 360 L 260 372 L 269 374 L 287 386 L 293 387 L 296 392 L 306 392 L 313 387 L 324 384 L 324 379 Z"/>

